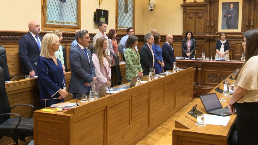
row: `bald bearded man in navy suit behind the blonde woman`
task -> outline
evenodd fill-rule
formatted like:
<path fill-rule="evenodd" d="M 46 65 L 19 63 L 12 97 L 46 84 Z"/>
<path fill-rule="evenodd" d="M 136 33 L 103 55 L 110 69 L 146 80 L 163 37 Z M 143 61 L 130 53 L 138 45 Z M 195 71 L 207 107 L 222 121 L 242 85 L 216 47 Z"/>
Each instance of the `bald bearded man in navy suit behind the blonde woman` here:
<path fill-rule="evenodd" d="M 19 56 L 21 58 L 21 71 L 30 74 L 31 77 L 37 75 L 36 65 L 40 56 L 42 38 L 40 24 L 37 21 L 29 22 L 29 32 L 22 35 L 19 40 Z"/>

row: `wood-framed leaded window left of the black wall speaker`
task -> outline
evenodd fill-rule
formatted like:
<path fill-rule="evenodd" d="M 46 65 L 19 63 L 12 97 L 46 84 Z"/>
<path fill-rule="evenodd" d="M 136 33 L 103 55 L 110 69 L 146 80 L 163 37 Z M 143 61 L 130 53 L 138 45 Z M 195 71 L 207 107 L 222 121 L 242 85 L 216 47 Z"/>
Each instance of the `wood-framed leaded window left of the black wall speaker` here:
<path fill-rule="evenodd" d="M 80 29 L 80 0 L 42 0 L 42 30 Z"/>

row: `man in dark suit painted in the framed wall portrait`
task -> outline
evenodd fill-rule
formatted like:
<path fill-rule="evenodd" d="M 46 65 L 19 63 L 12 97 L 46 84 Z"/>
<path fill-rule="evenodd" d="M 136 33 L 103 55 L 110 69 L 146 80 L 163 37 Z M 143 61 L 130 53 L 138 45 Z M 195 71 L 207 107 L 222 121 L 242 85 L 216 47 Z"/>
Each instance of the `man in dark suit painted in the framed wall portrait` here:
<path fill-rule="evenodd" d="M 227 29 L 235 29 L 235 14 L 236 14 L 236 10 L 233 8 L 233 3 L 229 4 L 229 10 L 226 11 L 226 13 L 224 14 L 224 17 L 227 18 Z"/>

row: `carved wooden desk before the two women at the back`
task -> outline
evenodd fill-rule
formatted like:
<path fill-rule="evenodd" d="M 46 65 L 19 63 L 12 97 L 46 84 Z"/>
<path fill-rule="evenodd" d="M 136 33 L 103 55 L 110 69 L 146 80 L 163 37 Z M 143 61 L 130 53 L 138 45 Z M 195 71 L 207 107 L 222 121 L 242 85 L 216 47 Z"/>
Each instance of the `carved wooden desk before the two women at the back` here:
<path fill-rule="evenodd" d="M 223 81 L 243 62 L 232 61 L 202 61 L 202 60 L 176 60 L 177 67 L 194 68 L 194 91 L 197 95 L 210 92 L 216 85 Z"/>

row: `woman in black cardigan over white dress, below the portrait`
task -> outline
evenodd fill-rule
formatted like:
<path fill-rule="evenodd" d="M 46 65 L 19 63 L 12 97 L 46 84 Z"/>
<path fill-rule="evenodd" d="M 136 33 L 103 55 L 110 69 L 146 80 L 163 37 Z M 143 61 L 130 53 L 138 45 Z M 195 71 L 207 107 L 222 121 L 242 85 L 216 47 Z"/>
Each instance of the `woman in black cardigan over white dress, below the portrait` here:
<path fill-rule="evenodd" d="M 228 52 L 229 52 L 229 42 L 226 40 L 227 35 L 225 32 L 220 34 L 220 40 L 217 40 L 216 43 L 216 55 L 215 58 L 225 58 L 229 60 Z"/>

